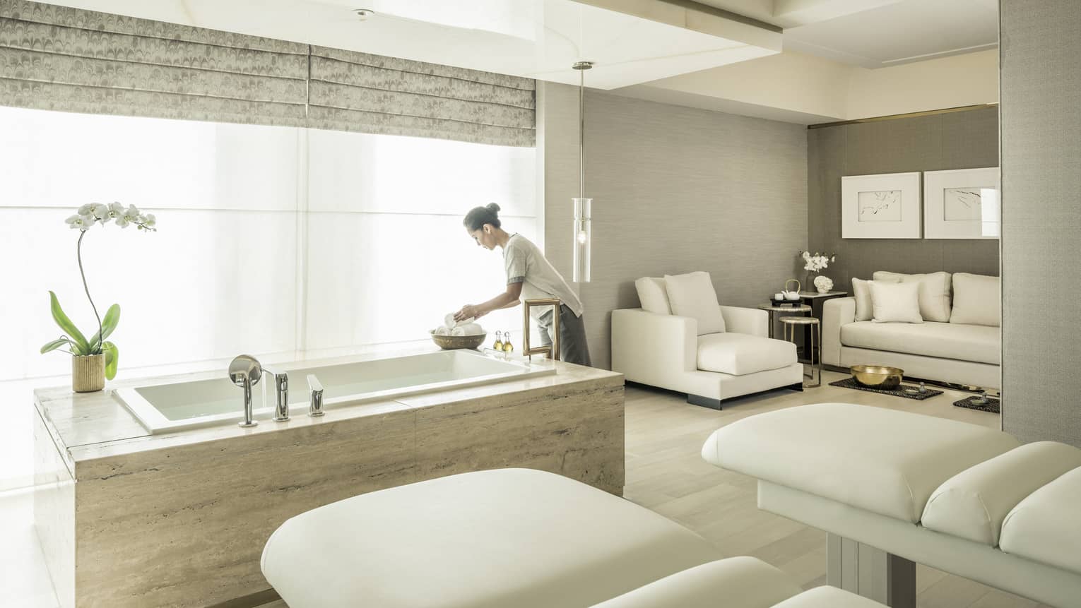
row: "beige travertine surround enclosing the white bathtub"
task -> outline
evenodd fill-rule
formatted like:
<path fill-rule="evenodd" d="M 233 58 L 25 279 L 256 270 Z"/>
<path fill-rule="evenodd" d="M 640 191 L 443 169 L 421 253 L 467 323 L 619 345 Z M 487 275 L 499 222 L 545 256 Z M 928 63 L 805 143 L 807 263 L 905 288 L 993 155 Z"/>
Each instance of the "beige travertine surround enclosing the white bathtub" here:
<path fill-rule="evenodd" d="M 108 390 L 37 391 L 39 474 L 58 479 L 58 490 L 36 503 L 36 517 L 42 542 L 57 551 L 50 567 L 61 604 L 212 606 L 263 592 L 259 554 L 286 518 L 452 473 L 526 467 L 620 495 L 623 376 L 552 365 L 553 376 L 330 409 L 319 419 L 160 435 Z"/>

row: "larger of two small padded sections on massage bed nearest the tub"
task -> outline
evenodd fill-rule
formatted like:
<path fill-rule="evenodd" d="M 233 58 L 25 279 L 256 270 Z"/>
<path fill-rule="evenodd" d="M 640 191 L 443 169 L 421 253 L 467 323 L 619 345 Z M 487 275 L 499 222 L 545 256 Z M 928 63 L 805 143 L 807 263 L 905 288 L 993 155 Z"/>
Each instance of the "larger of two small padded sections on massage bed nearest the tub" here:
<path fill-rule="evenodd" d="M 755 557 L 729 557 L 695 566 L 592 608 L 772 608 L 800 587 L 780 570 Z"/>

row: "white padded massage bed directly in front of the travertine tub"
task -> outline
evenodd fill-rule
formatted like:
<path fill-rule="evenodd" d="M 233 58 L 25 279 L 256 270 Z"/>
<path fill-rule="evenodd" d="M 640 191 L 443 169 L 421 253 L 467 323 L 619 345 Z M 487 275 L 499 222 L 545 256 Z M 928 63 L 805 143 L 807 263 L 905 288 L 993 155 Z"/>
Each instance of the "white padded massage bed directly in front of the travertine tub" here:
<path fill-rule="evenodd" d="M 552 473 L 502 469 L 378 490 L 286 521 L 267 581 L 290 608 L 882 608 L 806 592 L 753 557 Z"/>

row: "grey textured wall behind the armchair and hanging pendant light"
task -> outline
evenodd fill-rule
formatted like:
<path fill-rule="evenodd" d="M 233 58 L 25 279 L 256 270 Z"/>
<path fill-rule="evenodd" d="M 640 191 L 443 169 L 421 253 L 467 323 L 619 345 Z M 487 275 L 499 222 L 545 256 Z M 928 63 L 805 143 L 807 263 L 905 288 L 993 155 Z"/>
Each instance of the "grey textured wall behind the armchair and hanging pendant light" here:
<path fill-rule="evenodd" d="M 577 90 L 540 83 L 545 251 L 571 275 Z M 635 280 L 708 271 L 722 303 L 765 301 L 806 245 L 806 127 L 588 91 L 592 282 L 579 287 L 593 365 L 611 366 L 611 311 Z"/>

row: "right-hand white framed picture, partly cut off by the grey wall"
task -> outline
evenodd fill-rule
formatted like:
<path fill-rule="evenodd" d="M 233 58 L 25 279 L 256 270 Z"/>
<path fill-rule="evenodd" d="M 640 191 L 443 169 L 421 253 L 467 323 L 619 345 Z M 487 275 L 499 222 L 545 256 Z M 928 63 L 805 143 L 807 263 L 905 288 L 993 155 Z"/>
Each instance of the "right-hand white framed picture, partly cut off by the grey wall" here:
<path fill-rule="evenodd" d="M 923 173 L 924 239 L 998 239 L 999 167 Z"/>

